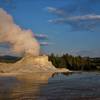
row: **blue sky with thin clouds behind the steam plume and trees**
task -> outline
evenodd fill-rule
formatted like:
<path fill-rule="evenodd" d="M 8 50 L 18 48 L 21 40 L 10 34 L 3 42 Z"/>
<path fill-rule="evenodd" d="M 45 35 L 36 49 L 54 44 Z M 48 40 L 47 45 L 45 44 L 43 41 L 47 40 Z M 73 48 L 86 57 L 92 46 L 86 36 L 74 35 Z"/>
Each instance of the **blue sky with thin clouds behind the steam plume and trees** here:
<path fill-rule="evenodd" d="M 20 27 L 47 36 L 38 39 L 43 53 L 100 57 L 100 0 L 0 0 L 0 8 Z"/>

